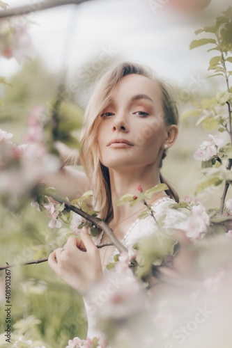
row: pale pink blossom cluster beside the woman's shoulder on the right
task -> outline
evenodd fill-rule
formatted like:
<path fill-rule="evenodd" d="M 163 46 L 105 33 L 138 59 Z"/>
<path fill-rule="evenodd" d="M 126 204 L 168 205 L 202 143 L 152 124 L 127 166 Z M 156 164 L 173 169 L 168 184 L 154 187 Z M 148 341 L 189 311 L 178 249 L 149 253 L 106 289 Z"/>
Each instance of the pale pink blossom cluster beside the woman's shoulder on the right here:
<path fill-rule="evenodd" d="M 201 203 L 192 207 L 191 215 L 180 223 L 180 228 L 185 230 L 185 234 L 192 241 L 199 239 L 202 233 L 207 232 L 207 227 L 210 225 L 210 217 L 206 213 L 206 209 Z"/>

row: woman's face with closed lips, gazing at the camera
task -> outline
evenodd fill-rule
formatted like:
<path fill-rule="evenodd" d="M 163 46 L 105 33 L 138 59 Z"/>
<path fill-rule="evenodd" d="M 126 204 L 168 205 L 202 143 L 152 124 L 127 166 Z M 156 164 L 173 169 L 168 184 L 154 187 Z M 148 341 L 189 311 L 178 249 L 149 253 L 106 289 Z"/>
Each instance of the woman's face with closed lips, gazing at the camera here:
<path fill-rule="evenodd" d="M 111 102 L 100 116 L 100 161 L 107 168 L 160 165 L 169 127 L 164 124 L 159 85 L 148 77 L 130 74 L 111 92 Z"/>

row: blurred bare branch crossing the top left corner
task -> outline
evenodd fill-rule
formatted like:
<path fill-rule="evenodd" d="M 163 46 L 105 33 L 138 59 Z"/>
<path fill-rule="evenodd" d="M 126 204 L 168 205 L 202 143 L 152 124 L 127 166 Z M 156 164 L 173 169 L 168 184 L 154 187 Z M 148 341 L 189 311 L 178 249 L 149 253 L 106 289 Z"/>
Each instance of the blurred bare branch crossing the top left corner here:
<path fill-rule="evenodd" d="M 30 5 L 9 8 L 8 10 L 1 10 L 0 18 L 13 17 L 19 15 L 25 16 L 28 13 L 47 10 L 47 8 L 70 5 L 71 3 L 79 5 L 79 3 L 83 3 L 86 1 L 88 0 L 41 0 L 38 1 L 38 3 L 31 3 Z"/>

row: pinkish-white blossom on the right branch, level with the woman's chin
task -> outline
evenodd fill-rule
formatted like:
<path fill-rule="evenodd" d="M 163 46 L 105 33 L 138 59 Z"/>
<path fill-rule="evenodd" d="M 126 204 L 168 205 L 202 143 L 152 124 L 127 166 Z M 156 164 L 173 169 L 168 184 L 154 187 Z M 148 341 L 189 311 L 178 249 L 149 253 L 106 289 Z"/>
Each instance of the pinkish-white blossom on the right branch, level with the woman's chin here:
<path fill-rule="evenodd" d="M 209 141 L 203 141 L 200 148 L 194 152 L 194 159 L 197 161 L 209 161 L 212 157 L 217 156 L 217 146 L 222 144 L 219 136 L 209 134 Z"/>

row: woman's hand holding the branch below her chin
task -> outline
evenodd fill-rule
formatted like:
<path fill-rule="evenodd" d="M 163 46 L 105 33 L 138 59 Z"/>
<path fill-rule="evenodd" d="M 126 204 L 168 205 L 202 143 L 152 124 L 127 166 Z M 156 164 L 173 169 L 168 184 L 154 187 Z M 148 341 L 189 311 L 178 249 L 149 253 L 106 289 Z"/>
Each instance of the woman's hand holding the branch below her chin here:
<path fill-rule="evenodd" d="M 102 264 L 99 249 L 86 227 L 82 228 L 81 237 L 69 237 L 64 249 L 52 251 L 48 265 L 65 283 L 84 295 L 102 279 Z M 86 251 L 80 250 L 82 248 Z"/>

